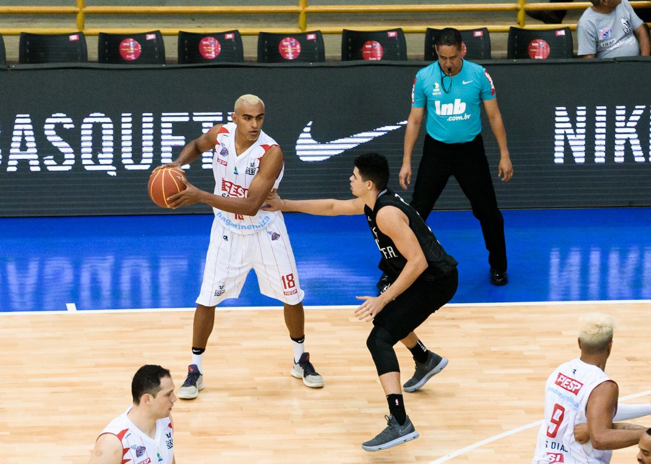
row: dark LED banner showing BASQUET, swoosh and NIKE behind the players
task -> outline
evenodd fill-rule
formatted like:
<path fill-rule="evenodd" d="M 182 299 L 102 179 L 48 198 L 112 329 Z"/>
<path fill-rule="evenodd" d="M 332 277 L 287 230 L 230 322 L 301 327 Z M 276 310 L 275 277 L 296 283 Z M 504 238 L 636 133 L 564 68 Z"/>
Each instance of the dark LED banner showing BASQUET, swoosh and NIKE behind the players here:
<path fill-rule="evenodd" d="M 484 120 L 499 205 L 651 206 L 649 64 L 484 62 L 515 172 L 509 183 L 497 178 L 499 151 Z M 209 213 L 206 205 L 164 211 L 149 199 L 147 180 L 187 142 L 228 122 L 242 94 L 266 103 L 263 130 L 285 157 L 282 196 L 350 198 L 352 160 L 367 151 L 387 156 L 390 187 L 402 192 L 411 85 L 425 65 L 14 66 L 0 71 L 0 216 Z M 421 149 L 422 136 L 413 180 Z M 186 166 L 189 182 L 211 192 L 212 157 Z M 450 179 L 436 207 L 469 204 Z"/>

